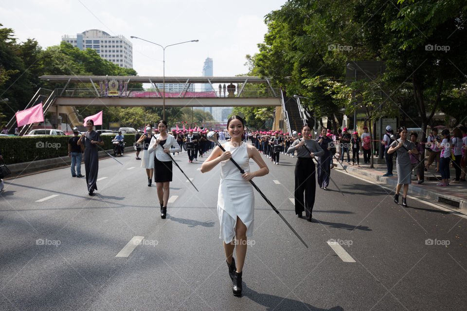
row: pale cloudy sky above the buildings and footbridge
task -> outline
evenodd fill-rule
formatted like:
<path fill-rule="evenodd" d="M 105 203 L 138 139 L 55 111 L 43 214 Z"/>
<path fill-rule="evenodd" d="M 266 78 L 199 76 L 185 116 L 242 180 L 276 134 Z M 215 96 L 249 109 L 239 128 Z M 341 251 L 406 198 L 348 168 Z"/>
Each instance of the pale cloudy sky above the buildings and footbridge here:
<path fill-rule="evenodd" d="M 124 35 L 133 43 L 133 68 L 140 76 L 162 76 L 162 48 L 168 47 L 166 76 L 201 76 L 206 57 L 214 76 L 247 73 L 246 54 L 258 52 L 267 27 L 264 16 L 286 0 L 0 0 L 0 23 L 19 41 L 34 38 L 42 48 L 58 45 L 62 35 L 89 29 Z"/>

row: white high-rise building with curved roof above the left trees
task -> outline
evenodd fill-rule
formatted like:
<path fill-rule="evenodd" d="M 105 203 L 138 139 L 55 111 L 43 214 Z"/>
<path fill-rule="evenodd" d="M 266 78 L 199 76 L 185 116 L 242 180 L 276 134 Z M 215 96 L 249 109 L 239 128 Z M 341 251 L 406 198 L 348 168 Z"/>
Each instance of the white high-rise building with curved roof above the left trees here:
<path fill-rule="evenodd" d="M 133 45 L 123 35 L 112 36 L 102 30 L 90 29 L 74 37 L 64 35 L 62 41 L 80 50 L 93 49 L 120 67 L 133 68 Z"/>

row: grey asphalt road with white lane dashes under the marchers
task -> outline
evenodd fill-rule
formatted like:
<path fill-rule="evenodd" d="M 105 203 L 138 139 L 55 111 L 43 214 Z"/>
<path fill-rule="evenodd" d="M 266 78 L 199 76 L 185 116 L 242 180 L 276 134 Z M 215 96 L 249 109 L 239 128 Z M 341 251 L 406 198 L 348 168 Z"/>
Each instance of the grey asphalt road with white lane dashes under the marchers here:
<path fill-rule="evenodd" d="M 332 170 L 344 195 L 317 189 L 309 223 L 294 214 L 296 159 L 286 155 L 281 165 L 265 157 L 270 173 L 254 182 L 309 248 L 255 192 L 244 294 L 234 297 L 216 215 L 220 167 L 202 174 L 205 158 L 175 156 L 199 192 L 174 166 L 165 220 L 134 153 L 123 166 L 99 161 L 94 197 L 68 168 L 7 180 L 0 310 L 467 309 L 466 216 L 415 198 L 404 208 L 391 190 Z M 134 237 L 144 239 L 128 250 Z"/>

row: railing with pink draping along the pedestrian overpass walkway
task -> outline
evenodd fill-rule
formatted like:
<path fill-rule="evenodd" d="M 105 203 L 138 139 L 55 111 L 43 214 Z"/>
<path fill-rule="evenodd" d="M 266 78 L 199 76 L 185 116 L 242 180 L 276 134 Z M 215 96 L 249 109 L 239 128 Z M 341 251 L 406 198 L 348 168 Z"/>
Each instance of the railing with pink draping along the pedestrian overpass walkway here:
<path fill-rule="evenodd" d="M 274 90 L 279 94 L 280 89 Z M 126 98 L 162 98 L 162 90 L 148 91 L 144 89 L 129 89 L 118 91 L 96 91 L 88 88 L 56 88 L 59 97 L 126 97 Z M 235 92 L 206 91 L 205 89 L 193 89 L 189 91 L 165 92 L 165 98 L 268 98 L 277 97 L 271 88 L 248 88 L 238 94 Z"/>

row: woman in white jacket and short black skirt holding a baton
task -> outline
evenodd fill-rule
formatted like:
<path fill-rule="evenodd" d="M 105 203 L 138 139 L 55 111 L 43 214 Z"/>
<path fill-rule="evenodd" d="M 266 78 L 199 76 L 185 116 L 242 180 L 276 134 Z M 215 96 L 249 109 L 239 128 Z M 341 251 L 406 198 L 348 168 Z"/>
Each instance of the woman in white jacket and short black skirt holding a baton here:
<path fill-rule="evenodd" d="M 153 135 L 149 143 L 148 153 L 154 156 L 154 182 L 157 187 L 157 196 L 161 205 L 161 218 L 167 214 L 167 201 L 169 200 L 169 183 L 172 181 L 172 159 L 168 153 L 180 152 L 181 148 L 175 137 L 167 134 L 167 122 L 159 121 L 157 128 L 159 134 Z"/>

